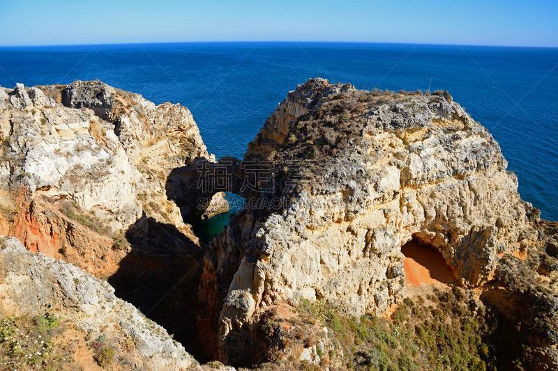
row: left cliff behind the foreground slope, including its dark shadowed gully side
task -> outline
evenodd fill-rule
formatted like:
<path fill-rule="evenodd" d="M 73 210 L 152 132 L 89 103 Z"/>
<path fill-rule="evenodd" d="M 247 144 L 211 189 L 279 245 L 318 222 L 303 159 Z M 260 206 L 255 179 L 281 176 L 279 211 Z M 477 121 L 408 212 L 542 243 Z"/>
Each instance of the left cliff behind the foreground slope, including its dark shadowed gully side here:
<path fill-rule="evenodd" d="M 18 84 L 0 88 L 0 137 L 0 234 L 107 278 L 195 352 L 203 254 L 190 222 L 228 205 L 167 197 L 174 168 L 215 161 L 190 111 L 100 81 Z"/>

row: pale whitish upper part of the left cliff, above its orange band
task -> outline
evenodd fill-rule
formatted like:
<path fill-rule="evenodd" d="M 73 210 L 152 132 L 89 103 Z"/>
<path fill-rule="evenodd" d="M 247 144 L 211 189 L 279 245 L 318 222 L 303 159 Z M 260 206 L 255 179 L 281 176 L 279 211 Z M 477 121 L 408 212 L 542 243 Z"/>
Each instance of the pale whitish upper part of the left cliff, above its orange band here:
<path fill-rule="evenodd" d="M 196 240 L 165 194 L 173 168 L 213 159 L 185 107 L 156 106 L 100 81 L 17 84 L 0 89 L 0 137 L 6 193 L 23 186 L 31 198 L 73 200 L 112 230 L 126 230 L 144 213 Z"/>

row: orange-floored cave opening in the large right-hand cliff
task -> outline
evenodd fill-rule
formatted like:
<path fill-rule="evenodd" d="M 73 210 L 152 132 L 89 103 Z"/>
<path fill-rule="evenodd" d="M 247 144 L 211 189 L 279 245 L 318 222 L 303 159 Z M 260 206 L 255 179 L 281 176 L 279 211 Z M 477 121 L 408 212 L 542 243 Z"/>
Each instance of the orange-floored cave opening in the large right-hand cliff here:
<path fill-rule="evenodd" d="M 405 285 L 448 285 L 456 283 L 455 271 L 442 253 L 432 245 L 422 244 L 416 237 L 401 247 L 405 256 Z"/>

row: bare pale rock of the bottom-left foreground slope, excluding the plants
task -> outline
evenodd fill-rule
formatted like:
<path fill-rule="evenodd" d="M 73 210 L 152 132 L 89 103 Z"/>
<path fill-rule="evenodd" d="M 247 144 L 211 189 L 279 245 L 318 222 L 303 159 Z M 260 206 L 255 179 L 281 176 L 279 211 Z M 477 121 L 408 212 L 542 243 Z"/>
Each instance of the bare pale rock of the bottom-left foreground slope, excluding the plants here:
<path fill-rule="evenodd" d="M 68 342 L 65 346 L 103 336 L 115 351 L 115 363 L 129 370 L 199 366 L 165 329 L 116 298 L 108 283 L 66 262 L 31 253 L 13 237 L 0 239 L 0 298 L 3 317 L 44 315 L 48 308 L 59 321 L 75 325 L 78 335 L 62 339 Z"/>

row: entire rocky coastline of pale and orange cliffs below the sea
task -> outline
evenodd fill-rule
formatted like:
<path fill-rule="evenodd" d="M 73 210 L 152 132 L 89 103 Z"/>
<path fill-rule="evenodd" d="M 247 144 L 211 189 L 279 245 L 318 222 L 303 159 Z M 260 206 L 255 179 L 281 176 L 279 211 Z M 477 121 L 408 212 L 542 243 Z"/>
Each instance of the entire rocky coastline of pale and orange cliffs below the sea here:
<path fill-rule="evenodd" d="M 217 160 L 179 104 L 18 84 L 0 136 L 0 316 L 56 316 L 77 368 L 558 368 L 558 224 L 447 92 L 310 79 Z"/>

